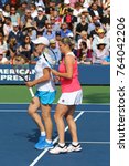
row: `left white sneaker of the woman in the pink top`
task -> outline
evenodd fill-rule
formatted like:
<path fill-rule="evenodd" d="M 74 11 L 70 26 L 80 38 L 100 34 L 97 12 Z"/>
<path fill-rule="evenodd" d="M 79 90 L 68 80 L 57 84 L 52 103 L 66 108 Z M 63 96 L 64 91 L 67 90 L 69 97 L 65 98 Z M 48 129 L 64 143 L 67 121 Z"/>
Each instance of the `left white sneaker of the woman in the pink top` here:
<path fill-rule="evenodd" d="M 60 154 L 60 153 L 66 153 L 66 152 L 67 152 L 67 146 L 65 145 L 63 147 L 57 145 L 54 148 L 50 149 L 51 154 Z"/>

